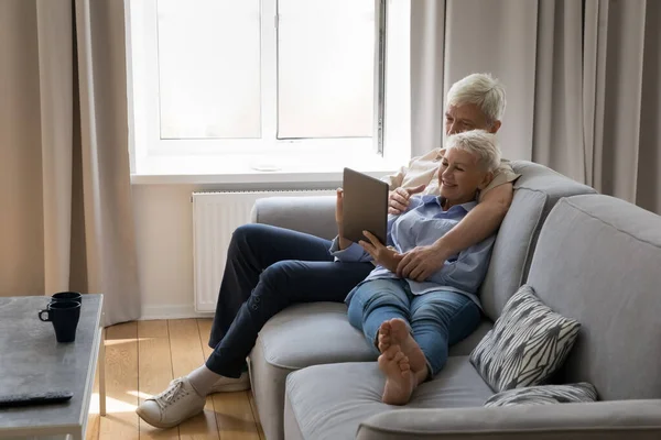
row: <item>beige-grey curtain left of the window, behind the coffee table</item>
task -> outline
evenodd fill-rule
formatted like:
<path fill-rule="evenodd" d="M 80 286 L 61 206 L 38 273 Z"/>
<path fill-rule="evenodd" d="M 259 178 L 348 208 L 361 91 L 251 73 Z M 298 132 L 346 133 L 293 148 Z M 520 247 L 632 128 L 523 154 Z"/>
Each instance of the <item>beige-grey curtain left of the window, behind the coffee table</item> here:
<path fill-rule="evenodd" d="M 123 2 L 0 2 L 0 295 L 101 293 L 140 317 Z"/>

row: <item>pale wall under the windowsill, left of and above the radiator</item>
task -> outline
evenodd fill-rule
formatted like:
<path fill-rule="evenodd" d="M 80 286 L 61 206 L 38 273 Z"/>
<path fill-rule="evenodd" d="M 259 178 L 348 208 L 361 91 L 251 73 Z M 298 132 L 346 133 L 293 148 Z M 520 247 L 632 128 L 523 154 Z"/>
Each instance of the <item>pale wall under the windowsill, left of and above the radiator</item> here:
<path fill-rule="evenodd" d="M 193 297 L 193 216 L 197 190 L 328 188 L 317 185 L 133 185 L 142 319 L 189 318 Z M 218 286 L 219 287 L 219 286 Z M 208 315 L 207 315 L 208 316 Z"/>

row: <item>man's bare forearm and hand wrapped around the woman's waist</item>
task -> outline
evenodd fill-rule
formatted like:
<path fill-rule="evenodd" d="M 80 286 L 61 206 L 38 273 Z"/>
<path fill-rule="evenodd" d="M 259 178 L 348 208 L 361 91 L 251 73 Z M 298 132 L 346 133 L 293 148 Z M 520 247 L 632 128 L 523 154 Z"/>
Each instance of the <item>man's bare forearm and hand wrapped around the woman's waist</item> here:
<path fill-rule="evenodd" d="M 398 275 L 422 282 L 438 271 L 452 255 L 494 234 L 505 219 L 512 197 L 511 183 L 487 191 L 481 201 L 434 244 L 408 252 L 397 267 Z"/>

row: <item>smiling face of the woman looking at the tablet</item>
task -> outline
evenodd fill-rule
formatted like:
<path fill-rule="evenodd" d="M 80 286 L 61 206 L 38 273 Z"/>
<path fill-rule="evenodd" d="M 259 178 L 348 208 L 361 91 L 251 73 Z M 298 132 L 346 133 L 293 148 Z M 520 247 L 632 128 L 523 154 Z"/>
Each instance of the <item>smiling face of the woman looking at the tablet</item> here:
<path fill-rule="evenodd" d="M 479 158 L 458 148 L 449 148 L 441 160 L 438 186 L 441 196 L 453 205 L 475 199 L 475 193 L 491 180 L 491 173 L 484 169 Z"/>

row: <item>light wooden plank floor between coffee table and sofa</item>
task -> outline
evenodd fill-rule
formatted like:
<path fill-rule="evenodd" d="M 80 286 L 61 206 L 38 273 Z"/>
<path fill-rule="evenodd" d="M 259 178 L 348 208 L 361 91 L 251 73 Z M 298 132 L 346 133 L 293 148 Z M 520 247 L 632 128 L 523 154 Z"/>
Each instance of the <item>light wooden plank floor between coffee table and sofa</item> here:
<path fill-rule="evenodd" d="M 145 398 L 203 364 L 209 355 L 210 319 L 121 323 L 106 329 L 107 416 L 98 415 L 98 375 L 87 425 L 87 440 L 195 439 L 263 440 L 252 394 L 207 397 L 203 414 L 181 426 L 158 429 L 136 415 Z"/>

